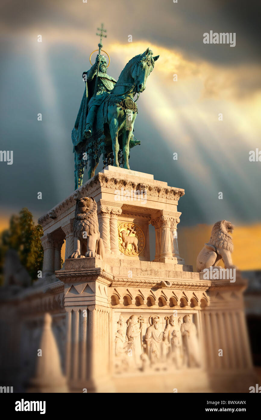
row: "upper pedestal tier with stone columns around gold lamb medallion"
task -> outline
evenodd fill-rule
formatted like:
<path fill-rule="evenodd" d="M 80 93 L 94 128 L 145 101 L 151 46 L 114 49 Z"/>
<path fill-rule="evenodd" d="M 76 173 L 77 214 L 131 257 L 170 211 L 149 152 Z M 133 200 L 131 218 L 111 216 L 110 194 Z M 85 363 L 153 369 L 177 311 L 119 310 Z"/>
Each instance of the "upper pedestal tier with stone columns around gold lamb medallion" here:
<path fill-rule="evenodd" d="M 184 195 L 183 189 L 155 181 L 153 175 L 147 173 L 108 166 L 76 192 L 78 198 L 91 196 L 97 203 L 99 231 L 106 255 L 120 256 L 129 261 L 184 264 L 178 253 L 177 239 L 177 224 L 181 216 L 177 205 Z M 39 218 L 45 235 L 63 232 L 65 257 L 72 254 L 74 210 L 75 193 Z M 150 256 L 149 224 L 155 227 L 155 256 Z M 54 251 L 52 243 L 47 243 L 44 238 L 47 249 L 44 260 L 49 261 L 44 261 L 44 267 L 50 274 L 53 273 L 51 259 Z"/>

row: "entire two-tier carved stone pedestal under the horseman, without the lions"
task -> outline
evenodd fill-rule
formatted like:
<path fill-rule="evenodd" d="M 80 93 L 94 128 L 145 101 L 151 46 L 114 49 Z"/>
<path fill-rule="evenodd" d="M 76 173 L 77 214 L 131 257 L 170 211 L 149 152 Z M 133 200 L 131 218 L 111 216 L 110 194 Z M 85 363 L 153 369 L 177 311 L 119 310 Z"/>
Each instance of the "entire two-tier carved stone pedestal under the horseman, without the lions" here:
<path fill-rule="evenodd" d="M 44 271 L 53 273 L 57 241 L 66 240 L 66 257 L 73 252 L 75 197 L 97 203 L 105 257 L 66 259 L 55 271 L 64 284 L 71 391 L 248 392 L 255 383 L 245 282 L 204 280 L 180 257 L 183 195 L 150 174 L 109 166 L 39 219 Z"/>

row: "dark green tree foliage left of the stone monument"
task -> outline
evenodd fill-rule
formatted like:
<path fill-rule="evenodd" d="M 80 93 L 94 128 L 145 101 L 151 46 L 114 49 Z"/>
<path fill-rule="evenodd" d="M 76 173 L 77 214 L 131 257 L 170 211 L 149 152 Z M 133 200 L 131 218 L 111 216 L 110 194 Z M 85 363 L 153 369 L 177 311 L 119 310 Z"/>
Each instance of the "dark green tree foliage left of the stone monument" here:
<path fill-rule="evenodd" d="M 9 228 L 0 235 L 0 273 L 3 273 L 5 252 L 15 249 L 31 278 L 36 279 L 44 259 L 41 236 L 43 229 L 34 224 L 33 215 L 27 208 L 23 208 L 19 215 L 13 215 Z"/>

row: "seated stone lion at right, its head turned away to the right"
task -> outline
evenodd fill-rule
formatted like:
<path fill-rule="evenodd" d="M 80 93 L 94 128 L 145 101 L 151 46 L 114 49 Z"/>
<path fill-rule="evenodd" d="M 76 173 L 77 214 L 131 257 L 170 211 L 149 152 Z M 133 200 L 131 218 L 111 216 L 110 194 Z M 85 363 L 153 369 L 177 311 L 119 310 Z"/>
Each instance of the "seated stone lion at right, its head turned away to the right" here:
<path fill-rule="evenodd" d="M 220 260 L 223 260 L 225 268 L 235 268 L 231 258 L 233 242 L 230 233 L 233 230 L 233 224 L 227 220 L 220 220 L 214 224 L 209 242 L 204 245 L 196 259 L 197 272 L 217 265 Z"/>

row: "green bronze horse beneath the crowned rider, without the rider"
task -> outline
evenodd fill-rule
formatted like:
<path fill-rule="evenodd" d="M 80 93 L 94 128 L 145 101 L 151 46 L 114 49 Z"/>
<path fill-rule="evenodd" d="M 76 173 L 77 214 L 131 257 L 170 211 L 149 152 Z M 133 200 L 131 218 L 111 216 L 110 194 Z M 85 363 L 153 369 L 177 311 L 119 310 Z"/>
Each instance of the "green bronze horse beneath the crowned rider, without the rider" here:
<path fill-rule="evenodd" d="M 108 93 L 98 108 L 93 125 L 93 136 L 74 147 L 75 152 L 75 189 L 83 184 L 83 171 L 87 162 L 90 165 L 89 179 L 103 154 L 104 166 L 121 163 L 129 169 L 129 149 L 140 144 L 133 136 L 134 121 L 137 116 L 136 101 L 146 88 L 147 77 L 154 68 L 159 55 L 153 57 L 147 50 L 133 57 L 122 70 L 114 88 Z M 134 96 L 137 96 L 134 102 Z M 119 162 L 120 160 L 120 162 Z"/>

